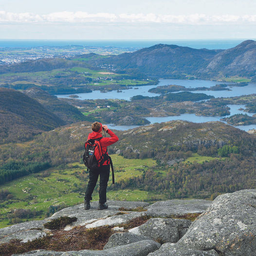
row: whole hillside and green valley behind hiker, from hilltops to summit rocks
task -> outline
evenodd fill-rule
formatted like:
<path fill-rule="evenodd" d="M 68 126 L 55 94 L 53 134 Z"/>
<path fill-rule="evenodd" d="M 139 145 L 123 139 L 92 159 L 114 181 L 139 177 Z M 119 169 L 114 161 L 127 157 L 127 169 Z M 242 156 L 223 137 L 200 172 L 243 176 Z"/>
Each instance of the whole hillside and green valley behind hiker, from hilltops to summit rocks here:
<path fill-rule="evenodd" d="M 15 208 L 26 209 L 32 220 L 82 202 L 89 132 L 90 123 L 81 122 L 0 145 L 4 225 L 25 220 L 22 214 L 13 217 Z M 256 137 L 222 122 L 172 121 L 115 133 L 119 141 L 108 148 L 115 168 L 115 184 L 110 177 L 108 188 L 112 200 L 214 199 L 255 187 Z"/>

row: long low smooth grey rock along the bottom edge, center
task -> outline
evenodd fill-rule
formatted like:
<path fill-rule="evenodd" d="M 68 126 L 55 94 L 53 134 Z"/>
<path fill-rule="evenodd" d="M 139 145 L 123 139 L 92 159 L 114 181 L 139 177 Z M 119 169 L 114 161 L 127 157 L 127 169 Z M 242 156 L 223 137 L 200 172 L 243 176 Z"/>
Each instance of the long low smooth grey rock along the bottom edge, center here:
<path fill-rule="evenodd" d="M 61 256 L 147 256 L 160 248 L 160 244 L 153 240 L 143 240 L 135 243 L 113 247 L 103 251 L 83 250 L 66 252 Z"/>

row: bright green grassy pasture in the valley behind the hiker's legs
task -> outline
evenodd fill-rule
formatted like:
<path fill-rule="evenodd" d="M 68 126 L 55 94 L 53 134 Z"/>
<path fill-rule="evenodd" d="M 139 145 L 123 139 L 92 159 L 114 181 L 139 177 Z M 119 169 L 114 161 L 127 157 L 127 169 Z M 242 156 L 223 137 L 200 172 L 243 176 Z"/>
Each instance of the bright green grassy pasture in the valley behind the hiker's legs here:
<path fill-rule="evenodd" d="M 119 155 L 112 155 L 115 168 L 115 180 L 140 176 L 148 167 L 156 166 L 152 159 L 125 159 Z M 47 212 L 51 205 L 65 204 L 65 207 L 83 203 L 84 192 L 88 182 L 85 166 L 79 163 L 69 164 L 65 168 L 50 168 L 49 176 L 45 172 L 31 174 L 0 186 L 0 190 L 7 189 L 14 196 L 8 201 L 0 202 L 0 228 L 6 227 L 9 220 L 7 215 L 12 209 L 30 209 Z M 109 185 L 111 185 L 111 174 Z M 98 184 L 96 186 L 98 188 Z M 164 195 L 141 190 L 117 190 L 107 193 L 109 200 L 150 201 L 151 198 L 164 199 Z M 98 200 L 97 189 L 92 195 L 93 201 Z M 44 219 L 42 213 L 34 219 Z M 26 219 L 22 219 L 25 221 Z"/>

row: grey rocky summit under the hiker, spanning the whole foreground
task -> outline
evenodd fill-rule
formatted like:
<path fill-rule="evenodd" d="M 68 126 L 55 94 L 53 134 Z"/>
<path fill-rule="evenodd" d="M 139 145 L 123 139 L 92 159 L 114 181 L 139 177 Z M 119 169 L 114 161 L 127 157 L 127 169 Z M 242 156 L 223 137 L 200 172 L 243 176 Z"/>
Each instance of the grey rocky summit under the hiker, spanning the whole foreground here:
<path fill-rule="evenodd" d="M 14 256 L 256 256 L 256 189 L 223 194 L 214 201 L 169 200 L 108 201 L 98 211 L 97 202 L 85 211 L 83 204 L 63 209 L 52 217 L 0 229 L 0 245 L 12 239 L 26 243 L 56 233 L 45 223 L 60 217 L 75 219 L 58 232 L 77 227 L 109 227 L 111 236 L 103 250 L 38 250 Z M 198 216 L 195 220 L 191 216 Z M 74 218 L 75 217 L 75 218 Z M 134 219 L 144 219 L 131 226 Z M 59 234 L 59 233 L 58 233 Z M 74 233 L 73 233 L 74 235 Z M 57 238 L 56 238 L 57 239 Z M 10 242 L 11 241 L 11 242 Z M 1 247 L 2 248 L 2 247 Z M 0 255 L 4 255 L 1 254 Z M 10 254 L 8 254 L 10 255 Z"/>

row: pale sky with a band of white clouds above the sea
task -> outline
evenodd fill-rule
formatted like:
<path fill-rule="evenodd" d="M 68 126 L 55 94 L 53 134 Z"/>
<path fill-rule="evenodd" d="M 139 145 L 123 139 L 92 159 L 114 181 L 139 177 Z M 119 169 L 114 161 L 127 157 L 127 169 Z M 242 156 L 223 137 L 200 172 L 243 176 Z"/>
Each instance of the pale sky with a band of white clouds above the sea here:
<path fill-rule="evenodd" d="M 0 0 L 0 39 L 255 38 L 256 0 Z"/>

